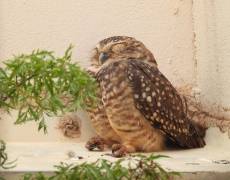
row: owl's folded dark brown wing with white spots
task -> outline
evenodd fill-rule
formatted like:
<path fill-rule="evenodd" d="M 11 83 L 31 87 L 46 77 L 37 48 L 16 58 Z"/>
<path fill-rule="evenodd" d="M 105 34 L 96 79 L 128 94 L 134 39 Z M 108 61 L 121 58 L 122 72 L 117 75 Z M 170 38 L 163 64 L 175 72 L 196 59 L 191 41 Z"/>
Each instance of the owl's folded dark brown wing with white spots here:
<path fill-rule="evenodd" d="M 184 148 L 203 147 L 205 142 L 186 116 L 176 89 L 158 70 L 142 61 L 129 60 L 129 83 L 136 108 L 171 140 Z"/>

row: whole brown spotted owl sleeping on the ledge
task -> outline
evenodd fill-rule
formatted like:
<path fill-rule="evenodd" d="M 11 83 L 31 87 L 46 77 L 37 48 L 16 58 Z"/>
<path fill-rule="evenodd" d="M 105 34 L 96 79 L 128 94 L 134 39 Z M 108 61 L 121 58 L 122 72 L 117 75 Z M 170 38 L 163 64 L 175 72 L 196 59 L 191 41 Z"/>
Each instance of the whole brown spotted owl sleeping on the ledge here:
<path fill-rule="evenodd" d="M 113 36 L 93 50 L 90 73 L 98 82 L 99 102 L 88 109 L 97 136 L 89 150 L 111 147 L 115 157 L 133 152 L 205 146 L 187 116 L 186 102 L 159 71 L 153 54 L 132 37 Z"/>

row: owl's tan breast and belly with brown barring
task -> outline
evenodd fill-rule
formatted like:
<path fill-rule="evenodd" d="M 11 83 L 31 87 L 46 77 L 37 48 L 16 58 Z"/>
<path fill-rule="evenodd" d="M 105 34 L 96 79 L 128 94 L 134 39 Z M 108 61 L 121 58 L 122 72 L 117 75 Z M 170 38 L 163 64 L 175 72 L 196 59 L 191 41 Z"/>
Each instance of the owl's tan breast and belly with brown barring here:
<path fill-rule="evenodd" d="M 155 130 L 135 106 L 133 90 L 127 77 L 127 63 L 124 61 L 109 65 L 100 72 L 98 80 L 108 120 L 116 133 L 137 149 L 146 151 L 155 149 L 156 146 L 151 144 L 158 139 L 161 143 L 156 149 L 160 149 L 162 133 Z"/>

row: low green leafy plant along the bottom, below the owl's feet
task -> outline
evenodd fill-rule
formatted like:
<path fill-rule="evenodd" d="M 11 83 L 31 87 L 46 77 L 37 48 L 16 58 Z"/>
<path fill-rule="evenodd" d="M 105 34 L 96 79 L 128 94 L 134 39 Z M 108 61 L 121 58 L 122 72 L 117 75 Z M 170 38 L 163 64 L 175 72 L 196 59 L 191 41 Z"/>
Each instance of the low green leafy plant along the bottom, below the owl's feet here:
<path fill-rule="evenodd" d="M 161 155 L 133 155 L 129 158 L 110 162 L 105 159 L 93 163 L 68 165 L 61 163 L 56 167 L 54 175 L 44 173 L 25 174 L 23 180 L 168 180 L 180 176 L 177 172 L 167 172 L 156 159 Z"/>

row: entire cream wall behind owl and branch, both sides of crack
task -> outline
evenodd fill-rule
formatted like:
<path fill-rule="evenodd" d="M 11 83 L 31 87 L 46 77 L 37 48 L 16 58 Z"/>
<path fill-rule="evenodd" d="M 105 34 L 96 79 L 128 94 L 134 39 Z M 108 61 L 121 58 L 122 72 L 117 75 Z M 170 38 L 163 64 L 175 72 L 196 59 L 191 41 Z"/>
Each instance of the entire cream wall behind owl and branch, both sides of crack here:
<path fill-rule="evenodd" d="M 1 0 L 0 59 L 36 48 L 54 50 L 61 55 L 72 43 L 75 45 L 74 60 L 86 67 L 90 50 L 99 40 L 112 35 L 134 36 L 154 53 L 161 71 L 174 84 L 196 84 L 201 89 L 203 101 L 227 107 L 230 102 L 230 98 L 226 98 L 230 97 L 227 91 L 230 31 L 223 29 L 230 23 L 227 18 L 230 1 L 221 4 L 218 0 L 215 5 L 212 2 Z M 208 13 L 209 8 L 215 14 Z M 218 18 L 217 24 L 213 16 Z M 0 121 L 0 137 L 5 140 L 66 141 L 55 130 L 55 121 L 49 122 L 50 133 L 43 136 L 34 133 L 33 124 L 16 127 L 12 123 L 14 117 L 4 115 L 2 118 L 5 120 Z M 87 123 L 84 127 L 83 140 L 92 132 Z"/>

